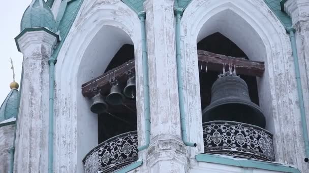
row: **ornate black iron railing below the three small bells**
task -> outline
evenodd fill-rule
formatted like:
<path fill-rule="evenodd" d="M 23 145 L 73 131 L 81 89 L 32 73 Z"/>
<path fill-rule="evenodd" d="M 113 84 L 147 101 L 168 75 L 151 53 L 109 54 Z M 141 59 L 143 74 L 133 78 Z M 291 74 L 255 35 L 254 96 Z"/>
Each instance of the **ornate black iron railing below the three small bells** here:
<path fill-rule="evenodd" d="M 113 172 L 138 160 L 137 146 L 136 131 L 104 141 L 83 159 L 84 173 Z"/>

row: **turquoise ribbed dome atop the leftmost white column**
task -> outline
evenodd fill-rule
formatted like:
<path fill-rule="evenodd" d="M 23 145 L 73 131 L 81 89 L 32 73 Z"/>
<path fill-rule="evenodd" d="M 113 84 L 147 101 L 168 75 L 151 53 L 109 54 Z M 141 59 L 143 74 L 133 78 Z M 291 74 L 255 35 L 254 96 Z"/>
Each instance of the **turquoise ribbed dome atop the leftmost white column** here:
<path fill-rule="evenodd" d="M 55 32 L 53 13 L 44 0 L 33 0 L 21 19 L 20 31 L 37 27 L 45 27 Z"/>

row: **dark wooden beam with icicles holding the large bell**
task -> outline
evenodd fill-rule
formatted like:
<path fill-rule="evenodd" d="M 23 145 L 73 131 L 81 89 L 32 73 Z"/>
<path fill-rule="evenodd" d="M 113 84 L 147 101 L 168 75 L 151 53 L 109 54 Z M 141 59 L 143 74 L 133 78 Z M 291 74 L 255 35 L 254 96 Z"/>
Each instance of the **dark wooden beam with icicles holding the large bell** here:
<path fill-rule="evenodd" d="M 226 64 L 226 70 L 229 69 L 229 64 L 236 64 L 237 74 L 261 77 L 265 71 L 264 62 L 227 57 L 201 50 L 198 50 L 198 61 L 199 68 L 201 69 L 202 67 L 202 70 L 205 70 L 207 65 L 207 70 L 209 71 L 222 72 L 224 64 Z"/>

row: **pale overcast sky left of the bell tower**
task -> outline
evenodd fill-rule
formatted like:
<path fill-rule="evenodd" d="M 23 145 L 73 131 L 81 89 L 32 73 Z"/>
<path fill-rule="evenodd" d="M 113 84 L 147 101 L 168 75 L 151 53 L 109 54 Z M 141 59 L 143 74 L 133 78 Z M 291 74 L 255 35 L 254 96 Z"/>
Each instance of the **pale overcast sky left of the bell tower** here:
<path fill-rule="evenodd" d="M 14 38 L 20 33 L 20 20 L 32 0 L 2 1 L 0 6 L 0 105 L 10 92 L 13 81 L 10 57 L 15 68 L 15 81 L 20 84 L 22 54 Z"/>

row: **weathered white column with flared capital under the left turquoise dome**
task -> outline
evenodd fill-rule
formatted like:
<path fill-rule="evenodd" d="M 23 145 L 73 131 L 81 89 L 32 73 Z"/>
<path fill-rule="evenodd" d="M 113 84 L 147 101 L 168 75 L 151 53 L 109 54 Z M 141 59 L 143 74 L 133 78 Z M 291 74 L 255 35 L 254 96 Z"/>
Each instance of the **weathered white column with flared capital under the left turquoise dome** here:
<path fill-rule="evenodd" d="M 45 28 L 16 37 L 23 54 L 23 77 L 15 144 L 14 172 L 48 171 L 48 59 L 57 35 Z"/>

